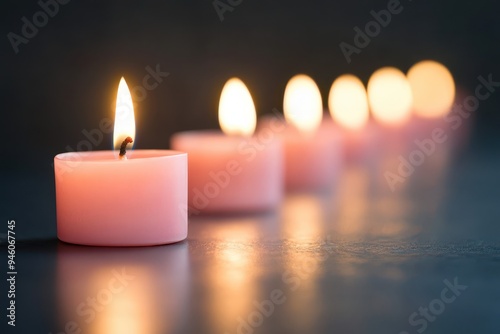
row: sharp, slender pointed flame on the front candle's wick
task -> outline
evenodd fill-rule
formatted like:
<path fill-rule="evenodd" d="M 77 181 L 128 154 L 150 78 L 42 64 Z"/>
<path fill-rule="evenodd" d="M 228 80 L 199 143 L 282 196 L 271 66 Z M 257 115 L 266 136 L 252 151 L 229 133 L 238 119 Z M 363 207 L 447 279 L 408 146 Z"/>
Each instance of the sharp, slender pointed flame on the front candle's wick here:
<path fill-rule="evenodd" d="M 115 150 L 120 149 L 120 145 L 127 137 L 135 140 L 134 103 L 132 102 L 132 96 L 130 95 L 125 78 L 122 77 L 116 96 L 115 129 L 113 132 Z"/>

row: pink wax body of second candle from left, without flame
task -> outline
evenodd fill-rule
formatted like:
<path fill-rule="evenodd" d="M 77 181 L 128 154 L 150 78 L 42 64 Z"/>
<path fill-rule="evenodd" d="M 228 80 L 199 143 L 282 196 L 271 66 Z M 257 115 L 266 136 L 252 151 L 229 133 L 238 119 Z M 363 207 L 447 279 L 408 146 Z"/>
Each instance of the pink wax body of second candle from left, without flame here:
<path fill-rule="evenodd" d="M 190 213 L 262 211 L 281 202 L 283 151 L 272 135 L 188 131 L 171 146 L 189 155 Z"/>

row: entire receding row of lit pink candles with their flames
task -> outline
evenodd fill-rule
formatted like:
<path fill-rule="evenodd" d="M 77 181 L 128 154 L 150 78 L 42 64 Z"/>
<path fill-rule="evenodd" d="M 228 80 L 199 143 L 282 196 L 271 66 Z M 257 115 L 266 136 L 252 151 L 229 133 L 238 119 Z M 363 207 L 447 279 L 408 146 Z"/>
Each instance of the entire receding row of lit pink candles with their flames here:
<path fill-rule="evenodd" d="M 177 242 L 187 237 L 188 211 L 268 210 L 279 205 L 285 188 L 331 189 L 345 139 L 335 123 L 363 131 L 371 110 L 381 124 L 398 126 L 409 118 L 412 106 L 418 115 L 434 117 L 450 108 L 453 96 L 450 100 L 449 92 L 436 94 L 429 87 L 449 84 L 450 79 L 454 95 L 449 72 L 431 61 L 416 64 L 407 76 L 395 68 L 380 69 L 367 90 L 356 77 L 341 76 L 328 99 L 333 122 L 323 117 L 316 83 L 297 75 L 285 89 L 284 118 L 276 112 L 257 123 L 250 92 L 233 78 L 219 103 L 223 132 L 177 133 L 171 138 L 174 151 L 127 152 L 135 121 L 122 78 L 115 150 L 54 158 L 58 237 L 108 246 Z"/>

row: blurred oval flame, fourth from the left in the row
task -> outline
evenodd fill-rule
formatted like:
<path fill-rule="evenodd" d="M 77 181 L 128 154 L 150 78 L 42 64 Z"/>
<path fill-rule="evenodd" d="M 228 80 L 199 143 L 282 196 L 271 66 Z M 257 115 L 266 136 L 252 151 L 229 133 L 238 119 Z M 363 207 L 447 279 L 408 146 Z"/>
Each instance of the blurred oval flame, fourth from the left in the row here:
<path fill-rule="evenodd" d="M 348 129 L 360 129 L 368 121 L 365 86 L 356 76 L 345 74 L 332 84 L 328 96 L 332 118 Z"/>

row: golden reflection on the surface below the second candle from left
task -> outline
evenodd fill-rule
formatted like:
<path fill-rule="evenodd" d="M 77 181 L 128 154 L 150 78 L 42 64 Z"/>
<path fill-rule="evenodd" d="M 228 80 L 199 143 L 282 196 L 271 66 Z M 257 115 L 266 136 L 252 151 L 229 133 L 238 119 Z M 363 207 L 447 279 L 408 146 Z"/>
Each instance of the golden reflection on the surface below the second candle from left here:
<path fill-rule="evenodd" d="M 208 287 L 207 321 L 214 332 L 234 332 L 254 310 L 253 302 L 262 298 L 259 282 L 262 267 L 258 266 L 256 244 L 260 238 L 273 234 L 272 218 L 272 215 L 204 217 L 191 222 L 193 234 L 217 241 L 215 249 L 203 250 L 211 256 L 198 275 L 203 277 L 200 283 Z"/>

